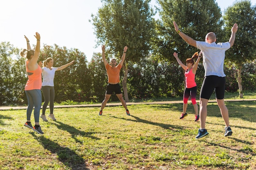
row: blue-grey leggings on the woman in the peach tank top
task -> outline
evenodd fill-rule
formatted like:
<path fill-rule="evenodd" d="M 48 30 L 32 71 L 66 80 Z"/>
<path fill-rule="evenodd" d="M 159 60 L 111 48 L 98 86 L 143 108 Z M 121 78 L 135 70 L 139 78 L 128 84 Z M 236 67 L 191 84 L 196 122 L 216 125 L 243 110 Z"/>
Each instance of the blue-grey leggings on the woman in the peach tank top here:
<path fill-rule="evenodd" d="M 25 91 L 27 95 L 27 120 L 30 120 L 32 110 L 35 106 L 34 110 L 34 118 L 35 122 L 39 122 L 39 116 L 40 116 L 40 109 L 42 105 L 42 93 L 41 90 L 35 89 L 35 90 L 29 90 Z"/>

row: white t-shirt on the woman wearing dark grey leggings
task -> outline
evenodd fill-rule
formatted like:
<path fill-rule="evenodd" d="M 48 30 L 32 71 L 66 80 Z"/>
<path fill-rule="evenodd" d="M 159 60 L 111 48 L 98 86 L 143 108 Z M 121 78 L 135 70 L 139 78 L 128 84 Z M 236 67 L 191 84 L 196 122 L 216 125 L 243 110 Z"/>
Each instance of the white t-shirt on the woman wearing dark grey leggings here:
<path fill-rule="evenodd" d="M 52 70 L 47 68 L 47 67 L 43 67 L 44 71 L 42 71 L 42 75 L 43 75 L 43 83 L 42 86 L 54 86 L 54 75 L 55 75 L 55 71 L 58 69 L 57 67 L 52 67 Z"/>

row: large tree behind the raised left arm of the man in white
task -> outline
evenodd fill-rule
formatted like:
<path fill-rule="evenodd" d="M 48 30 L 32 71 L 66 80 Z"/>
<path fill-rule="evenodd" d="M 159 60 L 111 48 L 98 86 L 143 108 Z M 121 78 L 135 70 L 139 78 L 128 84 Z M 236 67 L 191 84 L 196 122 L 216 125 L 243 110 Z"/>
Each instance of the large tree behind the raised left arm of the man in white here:
<path fill-rule="evenodd" d="M 180 60 L 185 62 L 199 51 L 180 38 L 174 29 L 173 21 L 194 40 L 204 41 L 209 32 L 216 33 L 217 37 L 222 36 L 223 20 L 215 0 L 158 0 L 158 3 L 161 20 L 157 20 L 154 53 L 161 59 L 177 63 L 173 57 L 173 52 L 177 51 L 180 53 Z"/>

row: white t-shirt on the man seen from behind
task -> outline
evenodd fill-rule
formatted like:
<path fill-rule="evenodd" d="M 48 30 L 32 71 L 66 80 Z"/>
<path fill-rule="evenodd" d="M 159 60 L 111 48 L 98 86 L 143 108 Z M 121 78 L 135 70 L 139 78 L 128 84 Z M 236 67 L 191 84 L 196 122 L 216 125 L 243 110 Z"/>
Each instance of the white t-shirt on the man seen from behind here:
<path fill-rule="evenodd" d="M 202 51 L 204 76 L 217 75 L 219 77 L 225 77 L 225 51 L 230 48 L 230 43 L 219 42 L 216 44 L 216 42 L 213 42 L 209 44 L 207 42 L 197 41 L 196 46 Z"/>

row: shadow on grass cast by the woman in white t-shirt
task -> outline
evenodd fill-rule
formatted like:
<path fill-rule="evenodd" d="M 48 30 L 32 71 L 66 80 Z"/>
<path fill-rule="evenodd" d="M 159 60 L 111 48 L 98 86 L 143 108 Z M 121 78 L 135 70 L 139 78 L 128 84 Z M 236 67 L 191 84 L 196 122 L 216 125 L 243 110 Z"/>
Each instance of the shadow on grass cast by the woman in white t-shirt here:
<path fill-rule="evenodd" d="M 90 137 L 91 139 L 99 140 L 98 137 L 92 136 L 92 134 L 95 132 L 84 132 L 84 131 L 74 128 L 73 126 L 63 124 L 61 121 L 54 121 L 52 124 L 54 124 L 60 130 L 65 130 L 65 131 L 69 132 L 70 135 L 72 136 L 72 138 L 75 139 L 76 142 L 79 142 L 81 144 L 83 143 L 83 141 L 80 141 L 79 139 L 77 139 L 77 137 L 76 137 L 77 135 L 80 135 L 83 137 Z"/>

